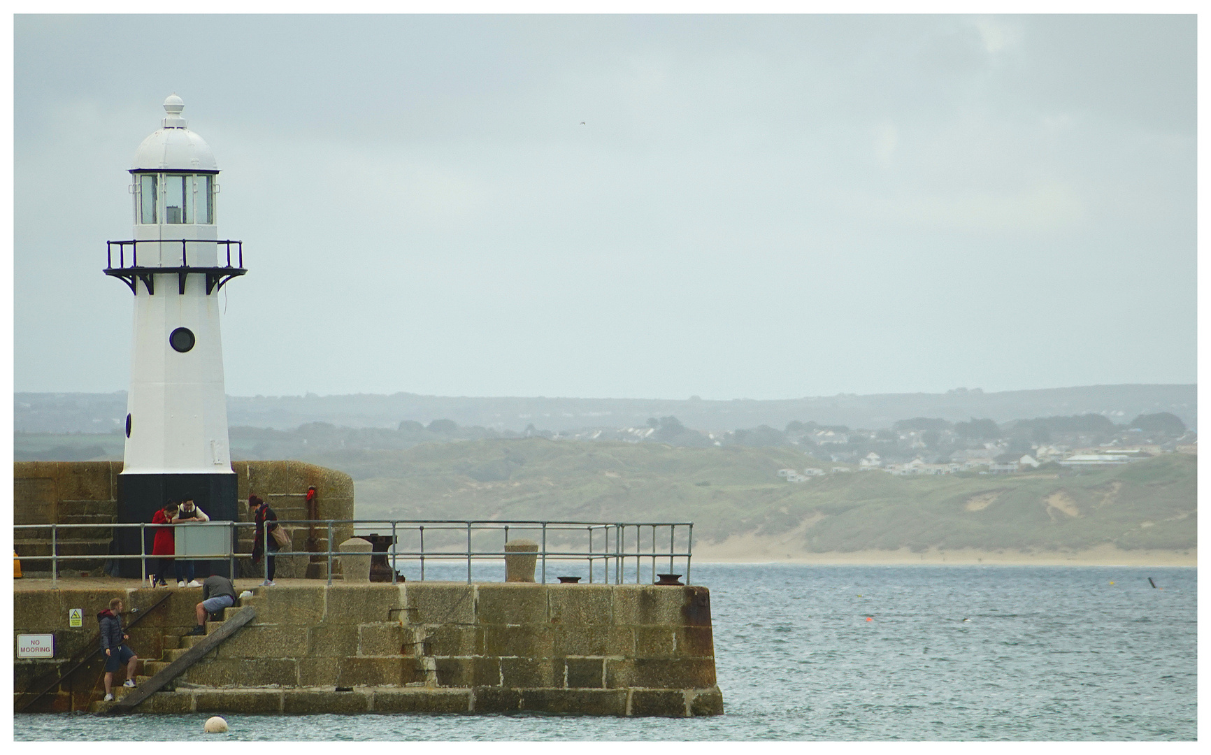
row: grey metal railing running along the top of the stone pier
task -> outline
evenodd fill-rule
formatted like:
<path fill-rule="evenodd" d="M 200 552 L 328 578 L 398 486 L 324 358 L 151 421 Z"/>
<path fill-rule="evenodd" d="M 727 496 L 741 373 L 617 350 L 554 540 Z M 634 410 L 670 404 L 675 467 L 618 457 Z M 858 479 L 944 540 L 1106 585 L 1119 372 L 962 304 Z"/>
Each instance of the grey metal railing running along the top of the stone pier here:
<path fill-rule="evenodd" d="M 322 552 L 327 557 L 328 569 L 327 580 L 328 584 L 332 584 L 332 572 L 333 572 L 333 559 L 343 555 L 366 555 L 365 552 L 354 551 L 337 551 L 337 543 L 333 542 L 334 528 L 342 525 L 352 525 L 354 535 L 361 530 L 366 532 L 369 529 L 381 529 L 384 525 L 391 528 L 391 543 L 389 551 L 384 554 L 390 558 L 391 564 L 391 581 L 392 583 L 397 580 L 397 565 L 398 560 L 414 560 L 418 559 L 420 563 L 420 580 L 425 580 L 425 561 L 426 560 L 466 560 L 466 581 L 470 584 L 472 581 L 472 561 L 475 560 L 499 560 L 501 558 L 507 558 L 510 555 L 516 555 L 517 552 L 506 552 L 504 548 L 476 548 L 472 542 L 472 535 L 476 531 L 499 531 L 504 534 L 504 542 L 509 542 L 509 531 L 512 530 L 538 530 L 540 531 L 539 549 L 533 553 L 541 563 L 541 582 L 546 583 L 546 566 L 547 560 L 579 560 L 586 561 L 589 565 L 589 581 L 595 582 L 595 564 L 601 563 L 603 567 L 602 580 L 607 583 L 613 582 L 615 584 L 621 584 L 624 580 L 629 581 L 627 571 L 630 565 L 633 564 L 635 569 L 635 582 L 638 584 L 642 580 L 642 563 L 644 560 L 650 561 L 650 575 L 655 578 L 655 571 L 658 567 L 658 560 L 665 558 L 668 559 L 668 571 L 672 572 L 676 567 L 676 563 L 679 559 L 684 559 L 685 563 L 685 583 L 690 584 L 690 565 L 693 561 L 693 544 L 694 544 L 694 523 L 693 521 L 551 521 L 543 519 L 528 519 L 528 520 L 493 520 L 493 519 L 279 519 L 279 525 L 325 525 L 327 529 L 327 543 L 326 551 Z M 159 528 L 159 526 L 226 526 L 231 530 L 233 547 L 229 553 L 214 553 L 214 554 L 189 554 L 189 559 L 206 560 L 206 559 L 228 559 L 230 560 L 231 574 L 235 574 L 235 561 L 236 559 L 251 558 L 252 553 L 240 553 L 236 549 L 237 534 L 241 528 L 257 528 L 253 521 L 211 521 L 211 523 L 199 523 L 199 524 L 177 524 L 177 525 L 163 525 L 163 524 L 148 524 L 148 523 L 73 523 L 73 524 L 25 524 L 25 525 L 13 525 L 15 530 L 30 530 L 30 529 L 51 529 L 51 554 L 50 555 L 27 555 L 21 557 L 29 561 L 51 561 L 51 581 L 54 586 L 58 584 L 58 571 L 59 561 L 64 559 L 88 559 L 88 558 L 103 558 L 105 560 L 124 560 L 124 559 L 140 559 L 142 560 L 142 578 L 147 578 L 147 559 L 159 558 L 155 554 L 149 554 L 147 552 L 147 528 Z M 139 553 L 130 554 L 105 554 L 90 557 L 87 554 L 78 555 L 61 555 L 58 553 L 59 528 L 110 528 L 110 529 L 122 529 L 122 528 L 138 528 L 140 530 L 139 537 Z M 635 538 L 633 548 L 629 546 L 627 529 L 633 528 Z M 668 547 L 667 549 L 658 549 L 656 535 L 660 528 L 668 529 Z M 684 549 L 678 548 L 677 530 L 684 529 Z M 466 532 L 466 546 L 463 551 L 450 549 L 450 547 L 425 547 L 425 531 L 429 530 L 430 534 L 434 531 L 465 531 Z M 650 543 L 650 549 L 644 552 L 643 547 L 643 535 L 644 530 L 648 530 L 648 542 Z M 587 536 L 587 543 L 585 549 L 568 549 L 567 547 L 555 547 L 549 543 L 547 531 L 553 534 L 568 532 L 584 534 Z M 414 532 L 419 538 L 419 549 L 400 549 L 400 535 Z M 595 535 L 601 534 L 601 549 L 598 551 L 595 544 Z M 263 534 L 268 537 L 268 532 Z M 256 541 L 256 532 L 253 534 L 253 541 Z M 432 540 L 430 540 L 432 542 Z M 280 551 L 270 551 L 269 543 L 263 541 L 263 558 L 264 558 L 264 570 L 265 578 L 268 580 L 269 558 L 276 558 L 281 554 Z M 291 555 L 320 555 L 321 552 L 310 551 L 292 551 L 288 552 Z M 372 553 L 372 555 L 379 554 L 378 552 Z M 530 553 L 526 553 L 530 555 Z M 613 567 L 613 569 L 612 569 Z M 613 571 L 613 574 L 610 574 Z"/>

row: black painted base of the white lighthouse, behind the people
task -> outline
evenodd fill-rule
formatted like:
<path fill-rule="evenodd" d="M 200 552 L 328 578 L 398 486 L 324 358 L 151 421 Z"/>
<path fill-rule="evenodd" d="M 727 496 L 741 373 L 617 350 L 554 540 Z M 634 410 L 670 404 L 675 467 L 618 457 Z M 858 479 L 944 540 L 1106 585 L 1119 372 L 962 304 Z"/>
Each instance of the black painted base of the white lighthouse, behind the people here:
<path fill-rule="evenodd" d="M 194 503 L 206 512 L 211 521 L 235 521 L 236 476 L 235 472 L 218 474 L 119 474 L 117 521 L 119 524 L 150 523 L 151 517 L 168 501 L 193 497 Z M 151 553 L 156 528 L 145 528 L 144 549 L 139 549 L 137 528 L 114 530 L 114 553 L 138 555 Z M 233 541 L 233 546 L 235 542 Z M 156 559 L 148 557 L 148 572 L 155 571 Z M 120 577 L 139 578 L 143 572 L 140 559 L 114 559 L 110 574 Z M 199 580 L 212 574 L 231 577 L 226 559 L 194 561 Z"/>

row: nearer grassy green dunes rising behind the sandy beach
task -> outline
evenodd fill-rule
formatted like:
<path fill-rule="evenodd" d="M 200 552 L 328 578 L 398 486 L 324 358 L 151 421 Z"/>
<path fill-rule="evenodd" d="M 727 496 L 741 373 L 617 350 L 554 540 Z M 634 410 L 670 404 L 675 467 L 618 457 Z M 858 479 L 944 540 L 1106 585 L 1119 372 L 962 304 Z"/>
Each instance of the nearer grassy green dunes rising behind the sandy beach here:
<path fill-rule="evenodd" d="M 326 454 L 351 474 L 357 515 L 694 520 L 721 542 L 781 535 L 804 552 L 1194 548 L 1195 459 L 1169 454 L 1061 477 L 832 473 L 785 483 L 779 448 L 671 448 L 541 438 Z"/>

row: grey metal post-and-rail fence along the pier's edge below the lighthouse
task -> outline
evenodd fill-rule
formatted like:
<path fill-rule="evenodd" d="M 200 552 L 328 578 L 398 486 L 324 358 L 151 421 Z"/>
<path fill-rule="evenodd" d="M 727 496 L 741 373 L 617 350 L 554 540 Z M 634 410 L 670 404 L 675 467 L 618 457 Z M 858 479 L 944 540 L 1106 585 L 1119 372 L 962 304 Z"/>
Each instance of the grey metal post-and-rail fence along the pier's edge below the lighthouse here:
<path fill-rule="evenodd" d="M 317 551 L 277 551 L 271 553 L 275 558 L 309 557 L 326 559 L 327 581 L 332 584 L 334 559 L 342 555 L 366 555 L 365 552 L 345 552 L 334 549 L 334 537 L 338 530 L 349 532 L 352 536 L 374 535 L 385 536 L 390 532 L 389 547 L 385 552 L 377 552 L 373 555 L 385 558 L 390 564 L 391 582 L 398 578 L 401 563 L 404 566 L 419 566 L 419 580 L 427 575 L 448 580 L 452 575 L 448 569 L 441 569 L 434 574 L 434 565 L 449 565 L 465 563 L 466 582 L 474 578 L 472 565 L 492 565 L 489 571 L 499 571 L 505 555 L 516 555 L 517 552 L 506 553 L 504 543 L 510 538 L 533 538 L 538 543 L 534 555 L 538 558 L 539 567 L 535 577 L 546 583 L 549 566 L 553 564 L 582 564 L 587 567 L 590 583 L 624 582 L 641 583 L 644 574 L 655 581 L 656 570 L 667 561 L 668 574 L 684 574 L 685 583 L 690 583 L 690 564 L 693 560 L 694 523 L 693 521 L 546 521 L 546 520 L 474 520 L 474 519 L 279 519 L 277 523 L 287 528 L 295 529 L 300 535 L 308 529 L 323 529 L 327 534 L 327 547 Z M 197 524 L 160 525 L 148 523 L 113 523 L 113 524 L 18 524 L 13 525 L 17 532 L 22 530 L 50 530 L 51 553 L 48 555 L 21 555 L 24 561 L 51 561 L 51 581 L 57 584 L 59 561 L 64 560 L 128 560 L 139 559 L 142 563 L 142 581 L 147 581 L 148 560 L 159 559 L 159 555 L 149 553 L 148 535 L 155 532 L 160 526 L 222 526 L 230 531 L 231 542 L 239 543 L 241 531 L 256 528 L 251 521 L 210 521 Z M 59 537 L 61 530 L 80 529 L 138 529 L 140 531 L 140 552 L 133 554 L 61 554 L 59 546 L 65 541 Z M 306 528 L 306 529 L 304 529 Z M 251 535 L 252 532 L 247 532 Z M 427 535 L 427 543 L 426 543 Z M 404 546 L 401 548 L 401 538 Z M 499 540 L 498 540 L 499 538 Z M 305 538 L 304 538 L 305 540 Z M 455 542 L 457 541 L 457 544 Z M 500 546 L 497 547 L 495 543 Z M 528 554 L 528 553 L 527 553 Z M 168 558 L 168 557 L 166 557 Z M 226 560 L 230 565 L 230 574 L 236 574 L 236 561 L 251 559 L 252 553 L 240 553 L 233 547 L 229 552 L 213 554 L 190 554 L 190 560 Z M 684 565 L 684 571 L 678 569 Z M 268 559 L 262 559 L 258 567 L 268 578 Z M 575 569 L 584 571 L 584 567 Z M 414 574 L 412 578 L 417 578 Z"/>

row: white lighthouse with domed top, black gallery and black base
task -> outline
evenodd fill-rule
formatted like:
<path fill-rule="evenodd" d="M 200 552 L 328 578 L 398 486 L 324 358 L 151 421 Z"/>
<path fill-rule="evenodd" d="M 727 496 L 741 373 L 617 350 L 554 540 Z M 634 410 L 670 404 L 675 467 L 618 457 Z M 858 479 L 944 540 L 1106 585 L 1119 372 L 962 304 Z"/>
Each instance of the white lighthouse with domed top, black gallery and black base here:
<path fill-rule="evenodd" d="M 218 163 L 186 128 L 184 106 L 168 97 L 161 128 L 134 154 L 133 238 L 107 242 L 105 275 L 134 294 L 120 523 L 150 521 L 185 496 L 212 520 L 236 518 L 218 292 L 246 272 L 243 249 L 218 237 Z M 120 553 L 139 553 L 136 530 L 116 532 Z M 126 576 L 139 571 L 137 560 L 119 563 Z"/>

